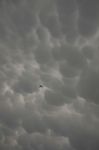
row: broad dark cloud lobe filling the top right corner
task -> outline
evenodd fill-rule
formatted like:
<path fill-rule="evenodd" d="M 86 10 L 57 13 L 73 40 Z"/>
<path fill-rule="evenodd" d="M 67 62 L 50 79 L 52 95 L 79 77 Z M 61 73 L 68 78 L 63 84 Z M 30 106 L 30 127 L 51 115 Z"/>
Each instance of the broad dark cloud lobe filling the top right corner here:
<path fill-rule="evenodd" d="M 97 0 L 84 0 L 79 2 L 79 31 L 83 36 L 96 33 L 99 25 L 99 2 Z"/>

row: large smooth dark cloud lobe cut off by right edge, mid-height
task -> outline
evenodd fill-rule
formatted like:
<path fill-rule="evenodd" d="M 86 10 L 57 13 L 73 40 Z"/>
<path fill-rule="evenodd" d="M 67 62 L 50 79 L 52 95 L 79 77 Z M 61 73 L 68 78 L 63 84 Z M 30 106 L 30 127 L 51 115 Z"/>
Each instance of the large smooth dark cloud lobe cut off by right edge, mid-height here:
<path fill-rule="evenodd" d="M 79 83 L 80 95 L 89 101 L 99 103 L 99 73 L 87 68 Z"/>

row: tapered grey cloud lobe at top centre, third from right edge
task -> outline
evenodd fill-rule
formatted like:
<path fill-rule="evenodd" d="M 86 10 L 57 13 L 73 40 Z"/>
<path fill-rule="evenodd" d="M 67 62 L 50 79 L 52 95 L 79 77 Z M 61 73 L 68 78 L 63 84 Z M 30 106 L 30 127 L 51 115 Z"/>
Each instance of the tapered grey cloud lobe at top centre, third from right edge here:
<path fill-rule="evenodd" d="M 53 3 L 48 3 L 46 8 L 42 10 L 40 13 L 40 21 L 48 28 L 52 36 L 56 38 L 61 36 L 61 27 L 54 1 Z"/>

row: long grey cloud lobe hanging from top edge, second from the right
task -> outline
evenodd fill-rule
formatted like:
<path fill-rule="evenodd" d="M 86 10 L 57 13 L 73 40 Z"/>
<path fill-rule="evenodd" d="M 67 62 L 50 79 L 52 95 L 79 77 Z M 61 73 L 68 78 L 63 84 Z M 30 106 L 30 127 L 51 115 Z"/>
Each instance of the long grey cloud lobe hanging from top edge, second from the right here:
<path fill-rule="evenodd" d="M 57 9 L 61 22 L 61 30 L 66 35 L 68 42 L 73 42 L 77 38 L 78 31 L 76 25 L 77 4 L 75 0 L 58 0 Z"/>

